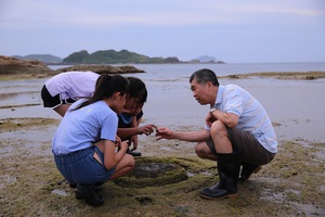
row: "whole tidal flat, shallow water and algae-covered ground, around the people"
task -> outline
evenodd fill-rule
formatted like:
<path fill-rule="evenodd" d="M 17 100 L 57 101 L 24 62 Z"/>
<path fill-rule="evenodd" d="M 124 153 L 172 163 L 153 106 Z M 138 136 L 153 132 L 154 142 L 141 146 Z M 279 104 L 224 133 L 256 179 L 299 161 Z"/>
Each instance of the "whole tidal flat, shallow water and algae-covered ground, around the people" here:
<path fill-rule="evenodd" d="M 221 78 L 252 93 L 268 111 L 280 146 L 275 159 L 239 183 L 239 195 L 222 201 L 198 196 L 219 180 L 216 163 L 199 159 L 194 143 L 156 141 L 140 136 L 141 158 L 173 162 L 186 180 L 167 186 L 132 187 L 109 181 L 105 204 L 88 206 L 75 199 L 51 153 L 60 117 L 40 104 L 44 78 L 0 81 L 0 216 L 323 216 L 325 215 L 325 79 L 252 76 Z M 143 124 L 176 130 L 204 125 L 207 106 L 192 97 L 187 78 L 144 80 L 148 100 Z"/>

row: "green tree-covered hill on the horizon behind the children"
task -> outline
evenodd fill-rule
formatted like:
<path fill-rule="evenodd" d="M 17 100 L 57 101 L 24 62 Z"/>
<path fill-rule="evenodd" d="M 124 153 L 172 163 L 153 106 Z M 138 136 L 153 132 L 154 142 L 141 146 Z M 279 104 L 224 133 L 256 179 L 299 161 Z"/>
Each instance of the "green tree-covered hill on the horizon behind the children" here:
<path fill-rule="evenodd" d="M 64 64 L 180 63 L 178 58 L 148 58 L 128 50 L 102 50 L 89 54 L 82 50 L 63 59 Z"/>

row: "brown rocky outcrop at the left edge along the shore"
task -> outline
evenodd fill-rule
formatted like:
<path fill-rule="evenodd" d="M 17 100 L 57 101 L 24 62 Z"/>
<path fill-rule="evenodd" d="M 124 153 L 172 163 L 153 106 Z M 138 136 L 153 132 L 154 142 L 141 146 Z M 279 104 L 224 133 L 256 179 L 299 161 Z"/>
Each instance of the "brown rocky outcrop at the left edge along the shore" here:
<path fill-rule="evenodd" d="M 53 74 L 53 71 L 40 61 L 23 61 L 0 55 L 0 75 L 12 74 Z"/>

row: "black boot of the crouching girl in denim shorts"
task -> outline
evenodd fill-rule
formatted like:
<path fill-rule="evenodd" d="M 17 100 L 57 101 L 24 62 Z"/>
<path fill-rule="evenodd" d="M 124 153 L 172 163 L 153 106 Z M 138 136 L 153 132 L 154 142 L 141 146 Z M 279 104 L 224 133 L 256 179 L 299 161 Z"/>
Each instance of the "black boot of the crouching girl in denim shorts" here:
<path fill-rule="evenodd" d="M 95 193 L 94 186 L 78 184 L 75 191 L 76 199 L 84 201 L 91 206 L 101 206 L 104 200 Z"/>

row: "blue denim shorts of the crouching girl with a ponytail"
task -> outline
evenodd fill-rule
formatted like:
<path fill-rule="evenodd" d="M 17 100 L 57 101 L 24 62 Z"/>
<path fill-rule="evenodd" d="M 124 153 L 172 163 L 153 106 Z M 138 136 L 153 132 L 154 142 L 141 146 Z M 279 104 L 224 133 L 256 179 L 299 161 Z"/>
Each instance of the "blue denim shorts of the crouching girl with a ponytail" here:
<path fill-rule="evenodd" d="M 69 154 L 54 154 L 54 161 L 60 173 L 70 183 L 103 183 L 113 176 L 115 168 L 107 170 L 93 157 L 94 152 L 104 163 L 104 155 L 96 145 Z"/>

